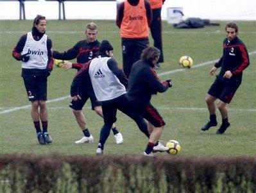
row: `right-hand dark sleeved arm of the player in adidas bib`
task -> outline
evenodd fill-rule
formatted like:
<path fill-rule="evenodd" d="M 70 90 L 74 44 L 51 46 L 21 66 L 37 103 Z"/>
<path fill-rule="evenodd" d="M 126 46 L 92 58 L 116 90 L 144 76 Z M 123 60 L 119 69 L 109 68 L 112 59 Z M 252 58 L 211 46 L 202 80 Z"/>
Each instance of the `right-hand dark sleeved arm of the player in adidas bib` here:
<path fill-rule="evenodd" d="M 124 71 L 122 69 L 119 69 L 117 66 L 117 62 L 110 58 L 107 62 L 108 68 L 117 76 L 119 81 L 124 85 L 125 88 L 128 87 L 128 78 L 125 76 Z"/>

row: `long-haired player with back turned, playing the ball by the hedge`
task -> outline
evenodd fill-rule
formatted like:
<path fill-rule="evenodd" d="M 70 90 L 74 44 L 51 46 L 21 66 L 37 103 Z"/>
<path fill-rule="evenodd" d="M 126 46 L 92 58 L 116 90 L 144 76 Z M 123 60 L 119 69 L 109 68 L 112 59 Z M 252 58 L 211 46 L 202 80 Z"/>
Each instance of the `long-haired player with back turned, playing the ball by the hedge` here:
<path fill-rule="evenodd" d="M 135 112 L 148 120 L 150 137 L 144 156 L 153 156 L 153 147 L 158 142 L 164 125 L 166 124 L 157 109 L 151 105 L 150 99 L 157 92 L 165 92 L 172 86 L 171 80 L 160 82 L 155 65 L 160 57 L 157 47 L 148 47 L 143 50 L 141 60 L 135 62 L 128 81 L 127 97 Z M 166 151 L 169 150 L 166 147 Z"/>

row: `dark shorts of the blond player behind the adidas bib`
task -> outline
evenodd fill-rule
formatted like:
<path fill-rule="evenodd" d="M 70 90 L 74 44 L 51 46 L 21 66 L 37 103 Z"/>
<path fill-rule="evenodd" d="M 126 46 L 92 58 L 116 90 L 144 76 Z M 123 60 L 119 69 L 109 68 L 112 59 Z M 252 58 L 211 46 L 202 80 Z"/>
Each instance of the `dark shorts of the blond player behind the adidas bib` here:
<path fill-rule="evenodd" d="M 69 107 L 74 110 L 82 110 L 83 106 L 85 105 L 86 101 L 90 98 L 90 103 L 92 105 L 92 110 L 94 110 L 95 106 L 101 106 L 101 102 L 99 102 L 94 94 L 93 90 L 85 91 L 79 94 L 81 100 L 78 101 L 71 101 L 69 103 Z"/>

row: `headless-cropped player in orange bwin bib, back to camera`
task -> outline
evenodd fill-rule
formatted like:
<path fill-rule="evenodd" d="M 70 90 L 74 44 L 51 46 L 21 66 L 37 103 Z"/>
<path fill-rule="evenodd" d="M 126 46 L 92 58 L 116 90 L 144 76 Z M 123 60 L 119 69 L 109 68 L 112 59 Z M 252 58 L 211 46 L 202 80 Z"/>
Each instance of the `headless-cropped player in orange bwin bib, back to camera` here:
<path fill-rule="evenodd" d="M 116 24 L 120 28 L 123 70 L 129 77 L 132 65 L 149 46 L 152 10 L 147 0 L 126 0 L 118 6 Z"/>

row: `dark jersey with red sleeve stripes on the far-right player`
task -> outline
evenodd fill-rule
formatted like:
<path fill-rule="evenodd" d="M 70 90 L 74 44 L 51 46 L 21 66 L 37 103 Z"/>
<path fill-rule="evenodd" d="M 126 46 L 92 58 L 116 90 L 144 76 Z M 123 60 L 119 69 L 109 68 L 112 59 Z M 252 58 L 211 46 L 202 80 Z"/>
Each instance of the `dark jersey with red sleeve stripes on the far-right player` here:
<path fill-rule="evenodd" d="M 223 77 L 226 71 L 232 72 L 230 80 L 242 80 L 243 70 L 250 64 L 248 51 L 244 43 L 238 38 L 228 41 L 227 38 L 223 41 L 223 56 L 215 67 L 221 67 L 219 77 Z"/>

